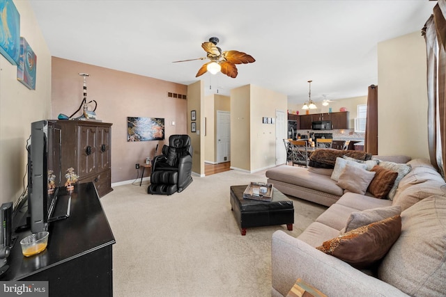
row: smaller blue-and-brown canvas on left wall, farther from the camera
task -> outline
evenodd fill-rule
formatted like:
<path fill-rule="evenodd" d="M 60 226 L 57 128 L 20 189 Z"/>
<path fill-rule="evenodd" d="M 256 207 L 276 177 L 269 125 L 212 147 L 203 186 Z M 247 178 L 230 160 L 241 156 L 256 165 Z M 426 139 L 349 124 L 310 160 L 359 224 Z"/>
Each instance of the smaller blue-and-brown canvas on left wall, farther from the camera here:
<path fill-rule="evenodd" d="M 31 90 L 36 90 L 36 63 L 36 54 L 34 54 L 26 39 L 21 37 L 17 79 Z"/>

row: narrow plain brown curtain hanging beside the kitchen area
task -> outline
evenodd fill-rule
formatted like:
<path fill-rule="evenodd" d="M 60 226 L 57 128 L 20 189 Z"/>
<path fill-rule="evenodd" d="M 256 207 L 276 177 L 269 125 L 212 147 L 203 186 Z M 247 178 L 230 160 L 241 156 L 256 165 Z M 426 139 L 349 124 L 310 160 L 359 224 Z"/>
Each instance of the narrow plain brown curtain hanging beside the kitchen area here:
<path fill-rule="evenodd" d="M 378 86 L 369 86 L 364 152 L 378 154 Z"/>

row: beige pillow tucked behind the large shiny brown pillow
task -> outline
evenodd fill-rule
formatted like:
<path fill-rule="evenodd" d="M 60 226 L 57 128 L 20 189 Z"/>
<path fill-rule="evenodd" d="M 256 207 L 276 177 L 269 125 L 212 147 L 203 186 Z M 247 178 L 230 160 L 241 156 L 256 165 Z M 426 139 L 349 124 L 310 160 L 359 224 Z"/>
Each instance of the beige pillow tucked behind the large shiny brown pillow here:
<path fill-rule="evenodd" d="M 377 207 L 375 209 L 353 211 L 347 220 L 344 232 L 349 232 L 353 229 L 384 220 L 385 218 L 391 218 L 392 216 L 397 216 L 399 214 L 401 214 L 401 207 L 399 206 Z"/>

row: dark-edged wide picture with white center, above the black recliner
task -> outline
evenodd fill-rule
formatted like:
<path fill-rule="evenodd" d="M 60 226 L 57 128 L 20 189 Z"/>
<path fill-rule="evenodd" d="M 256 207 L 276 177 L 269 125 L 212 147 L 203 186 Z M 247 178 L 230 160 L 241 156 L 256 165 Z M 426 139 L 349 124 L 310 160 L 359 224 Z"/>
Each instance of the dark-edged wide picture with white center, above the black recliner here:
<path fill-rule="evenodd" d="M 127 141 L 163 141 L 164 118 L 127 118 Z"/>

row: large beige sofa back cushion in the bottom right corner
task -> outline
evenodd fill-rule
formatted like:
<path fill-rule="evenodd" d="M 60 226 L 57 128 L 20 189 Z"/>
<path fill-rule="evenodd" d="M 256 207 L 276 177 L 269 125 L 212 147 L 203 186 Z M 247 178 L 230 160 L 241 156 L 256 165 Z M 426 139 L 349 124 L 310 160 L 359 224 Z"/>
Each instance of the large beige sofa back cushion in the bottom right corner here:
<path fill-rule="evenodd" d="M 401 213 L 401 236 L 378 268 L 378 278 L 410 296 L 446 292 L 446 198 L 432 196 Z"/>

